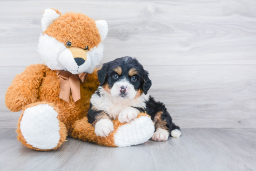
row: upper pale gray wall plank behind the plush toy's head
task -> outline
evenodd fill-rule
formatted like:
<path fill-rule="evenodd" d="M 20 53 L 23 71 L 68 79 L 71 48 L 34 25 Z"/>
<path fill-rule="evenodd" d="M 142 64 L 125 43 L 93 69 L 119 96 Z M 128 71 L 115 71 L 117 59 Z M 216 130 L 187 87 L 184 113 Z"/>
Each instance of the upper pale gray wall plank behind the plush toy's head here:
<path fill-rule="evenodd" d="M 256 65 L 255 0 L 2 0 L 0 66 L 41 62 L 40 20 L 50 7 L 108 21 L 102 63 L 134 56 L 144 65 Z"/>

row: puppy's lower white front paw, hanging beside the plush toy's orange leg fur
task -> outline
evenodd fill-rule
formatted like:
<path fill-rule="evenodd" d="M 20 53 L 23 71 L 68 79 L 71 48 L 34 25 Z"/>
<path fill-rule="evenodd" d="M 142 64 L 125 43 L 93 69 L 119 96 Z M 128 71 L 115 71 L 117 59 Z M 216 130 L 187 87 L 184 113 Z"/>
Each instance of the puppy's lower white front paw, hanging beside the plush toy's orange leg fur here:
<path fill-rule="evenodd" d="M 95 124 L 95 133 L 97 136 L 106 137 L 110 132 L 114 131 L 113 122 L 109 119 L 100 119 Z"/>

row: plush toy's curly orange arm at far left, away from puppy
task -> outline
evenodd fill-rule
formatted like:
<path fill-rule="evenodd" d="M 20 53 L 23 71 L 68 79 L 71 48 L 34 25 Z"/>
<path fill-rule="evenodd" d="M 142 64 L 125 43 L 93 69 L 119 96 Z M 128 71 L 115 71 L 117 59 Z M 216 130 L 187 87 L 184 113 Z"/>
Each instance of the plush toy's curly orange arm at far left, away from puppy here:
<path fill-rule="evenodd" d="M 5 95 L 5 105 L 12 112 L 18 112 L 28 104 L 36 102 L 38 88 L 44 76 L 42 64 L 28 66 L 24 72 L 17 75 L 8 87 Z"/>

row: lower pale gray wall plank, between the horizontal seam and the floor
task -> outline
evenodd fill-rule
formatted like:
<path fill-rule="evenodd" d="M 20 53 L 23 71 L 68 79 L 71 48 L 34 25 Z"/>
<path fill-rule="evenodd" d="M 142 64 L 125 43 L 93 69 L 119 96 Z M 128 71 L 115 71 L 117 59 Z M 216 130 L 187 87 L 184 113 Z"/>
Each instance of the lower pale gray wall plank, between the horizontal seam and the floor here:
<path fill-rule="evenodd" d="M 14 123 L 20 112 L 8 112 L 4 96 L 14 76 L 24 69 L 4 67 L 8 71 L 4 72 L 0 68 L 6 80 L 0 82 L 1 128 L 16 127 Z M 149 94 L 166 105 L 181 128 L 256 128 L 255 66 L 145 66 L 145 69 L 153 82 Z"/>

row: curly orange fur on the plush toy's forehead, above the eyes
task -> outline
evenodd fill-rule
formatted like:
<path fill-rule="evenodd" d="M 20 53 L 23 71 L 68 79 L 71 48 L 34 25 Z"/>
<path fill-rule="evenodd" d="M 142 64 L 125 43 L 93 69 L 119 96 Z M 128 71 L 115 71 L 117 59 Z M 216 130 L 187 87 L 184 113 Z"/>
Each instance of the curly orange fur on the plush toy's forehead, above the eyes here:
<path fill-rule="evenodd" d="M 64 44 L 70 41 L 73 47 L 82 49 L 86 46 L 93 48 L 101 43 L 95 21 L 82 13 L 71 12 L 61 15 L 44 33 Z"/>

